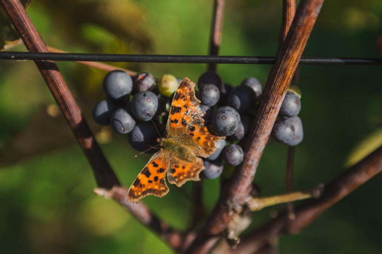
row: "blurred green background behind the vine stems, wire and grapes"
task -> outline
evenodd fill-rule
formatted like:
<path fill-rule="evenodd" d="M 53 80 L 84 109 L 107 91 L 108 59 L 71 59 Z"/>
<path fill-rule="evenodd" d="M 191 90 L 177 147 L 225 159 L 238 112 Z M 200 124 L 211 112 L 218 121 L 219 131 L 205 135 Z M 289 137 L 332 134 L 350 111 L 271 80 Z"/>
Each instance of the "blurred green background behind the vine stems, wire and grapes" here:
<path fill-rule="evenodd" d="M 227 1 L 222 55 L 272 56 L 282 1 Z M 212 0 L 33 0 L 27 9 L 47 45 L 70 52 L 196 54 L 208 52 Z M 382 3 L 326 1 L 304 56 L 379 57 Z M 12 50 L 25 50 L 17 46 Z M 104 71 L 57 63 L 121 182 L 129 186 L 149 159 L 134 158 L 127 137 L 100 128 L 91 108 L 104 98 Z M 116 66 L 197 80 L 205 64 Z M 224 82 L 248 76 L 264 84 L 270 66 L 220 65 Z M 301 66 L 300 117 L 305 138 L 296 147 L 294 189 L 327 183 L 346 170 L 357 144 L 382 127 L 380 66 Z M 171 253 L 151 231 L 113 201 L 95 196 L 89 164 L 31 61 L 0 61 L 0 245 L 4 253 Z M 379 142 L 380 135 L 372 138 Z M 368 142 L 366 142 L 367 145 Z M 269 142 L 255 182 L 262 195 L 285 190 L 286 146 Z M 280 240 L 281 253 L 380 253 L 381 175 L 321 215 L 298 236 Z M 208 210 L 219 180 L 204 181 Z M 191 183 L 170 186 L 144 203 L 174 228 L 192 218 Z M 282 206 L 254 214 L 252 227 Z"/>

